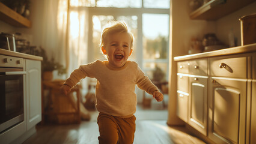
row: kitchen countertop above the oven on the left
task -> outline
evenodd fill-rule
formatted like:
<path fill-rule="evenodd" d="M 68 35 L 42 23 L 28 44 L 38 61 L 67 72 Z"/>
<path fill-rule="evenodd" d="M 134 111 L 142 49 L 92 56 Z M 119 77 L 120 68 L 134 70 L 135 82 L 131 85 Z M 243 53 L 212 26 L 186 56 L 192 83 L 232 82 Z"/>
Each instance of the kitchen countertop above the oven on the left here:
<path fill-rule="evenodd" d="M 0 49 L 0 55 L 15 56 L 15 57 L 19 57 L 19 58 L 43 61 L 43 57 L 41 57 L 41 56 L 28 55 L 26 53 L 13 52 L 10 50 L 5 50 L 5 49 Z"/>

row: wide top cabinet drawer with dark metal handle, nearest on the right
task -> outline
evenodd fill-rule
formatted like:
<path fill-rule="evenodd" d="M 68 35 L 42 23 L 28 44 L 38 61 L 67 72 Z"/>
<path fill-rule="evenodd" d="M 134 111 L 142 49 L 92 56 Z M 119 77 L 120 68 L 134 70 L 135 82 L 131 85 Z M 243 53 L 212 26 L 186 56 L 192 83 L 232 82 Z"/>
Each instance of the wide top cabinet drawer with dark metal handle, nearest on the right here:
<path fill-rule="evenodd" d="M 219 77 L 234 77 L 246 79 L 246 56 L 221 56 L 210 59 L 210 75 Z"/>

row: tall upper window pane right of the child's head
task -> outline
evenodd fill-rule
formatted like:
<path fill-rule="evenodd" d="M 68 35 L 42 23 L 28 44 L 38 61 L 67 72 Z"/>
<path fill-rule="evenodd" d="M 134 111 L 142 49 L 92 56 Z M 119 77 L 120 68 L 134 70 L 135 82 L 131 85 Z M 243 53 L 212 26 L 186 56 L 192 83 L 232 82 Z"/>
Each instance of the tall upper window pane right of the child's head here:
<path fill-rule="evenodd" d="M 168 58 L 169 15 L 142 14 L 143 58 Z"/>

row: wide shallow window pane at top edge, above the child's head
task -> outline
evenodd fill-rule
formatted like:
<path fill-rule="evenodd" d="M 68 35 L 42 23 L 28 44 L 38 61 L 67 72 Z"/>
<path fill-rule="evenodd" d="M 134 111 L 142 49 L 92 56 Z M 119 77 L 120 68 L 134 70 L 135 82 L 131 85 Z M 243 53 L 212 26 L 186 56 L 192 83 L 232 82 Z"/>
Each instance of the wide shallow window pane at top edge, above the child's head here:
<path fill-rule="evenodd" d="M 97 0 L 97 7 L 141 8 L 141 0 Z"/>

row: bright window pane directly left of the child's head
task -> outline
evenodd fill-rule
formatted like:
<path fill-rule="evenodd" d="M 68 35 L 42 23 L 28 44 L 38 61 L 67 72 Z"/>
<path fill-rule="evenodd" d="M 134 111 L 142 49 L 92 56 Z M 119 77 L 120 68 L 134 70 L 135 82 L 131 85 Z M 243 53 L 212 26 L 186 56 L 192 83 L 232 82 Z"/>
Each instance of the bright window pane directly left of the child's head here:
<path fill-rule="evenodd" d="M 113 16 L 93 16 L 93 56 L 94 60 L 105 60 L 104 55 L 100 50 L 100 36 L 102 34 L 103 26 L 110 20 L 114 20 Z"/>

